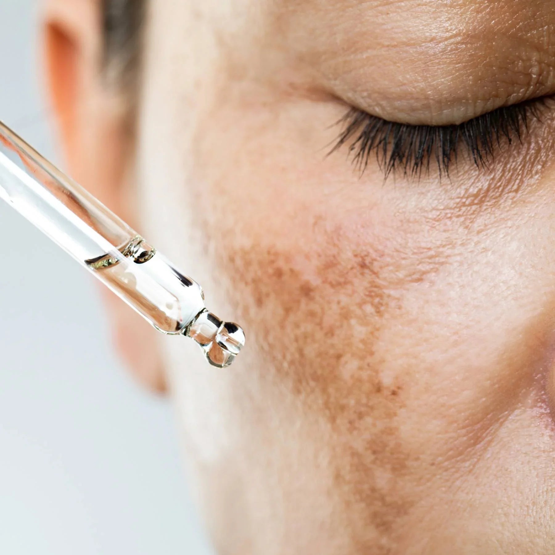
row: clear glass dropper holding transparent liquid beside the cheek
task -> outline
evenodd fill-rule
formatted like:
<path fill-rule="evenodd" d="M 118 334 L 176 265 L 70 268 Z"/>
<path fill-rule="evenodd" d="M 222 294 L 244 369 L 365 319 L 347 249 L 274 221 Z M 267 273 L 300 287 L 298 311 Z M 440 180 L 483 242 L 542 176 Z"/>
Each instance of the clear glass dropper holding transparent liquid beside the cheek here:
<path fill-rule="evenodd" d="M 220 368 L 239 354 L 243 330 L 206 310 L 196 281 L 2 122 L 0 198 L 163 334 L 191 337 Z"/>

